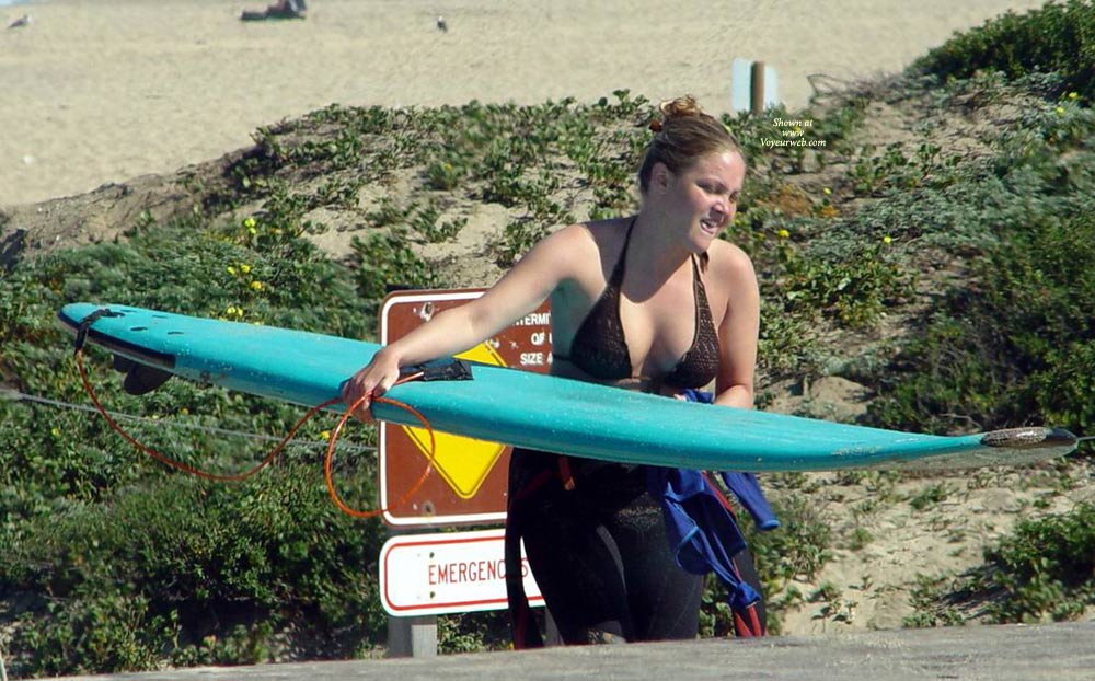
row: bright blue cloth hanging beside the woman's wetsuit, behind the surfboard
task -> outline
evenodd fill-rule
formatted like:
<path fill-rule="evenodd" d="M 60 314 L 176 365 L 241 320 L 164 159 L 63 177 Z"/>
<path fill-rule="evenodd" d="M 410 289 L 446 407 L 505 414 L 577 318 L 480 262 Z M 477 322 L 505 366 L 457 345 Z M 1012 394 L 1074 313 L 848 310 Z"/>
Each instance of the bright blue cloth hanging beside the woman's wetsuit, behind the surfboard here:
<path fill-rule="evenodd" d="M 711 404 L 711 393 L 688 390 L 690 402 Z M 753 517 L 757 527 L 780 527 L 752 473 L 721 473 L 734 496 Z M 648 466 L 646 486 L 661 504 L 670 550 L 677 564 L 694 575 L 715 573 L 729 590 L 729 604 L 745 610 L 760 599 L 756 589 L 741 580 L 734 556 L 746 547 L 734 516 L 700 471 Z"/>

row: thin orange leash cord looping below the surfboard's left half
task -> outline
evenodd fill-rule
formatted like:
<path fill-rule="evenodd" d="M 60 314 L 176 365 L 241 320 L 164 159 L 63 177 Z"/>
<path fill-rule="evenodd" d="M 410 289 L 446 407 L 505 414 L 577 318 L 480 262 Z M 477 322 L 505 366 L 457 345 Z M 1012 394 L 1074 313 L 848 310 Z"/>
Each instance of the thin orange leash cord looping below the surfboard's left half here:
<path fill-rule="evenodd" d="M 322 409 L 333 404 L 338 404 L 339 402 L 342 402 L 341 397 L 332 397 L 331 400 L 327 400 L 323 404 L 319 404 L 309 409 L 308 413 L 304 414 L 304 416 L 301 417 L 301 419 L 298 420 L 296 425 L 292 426 L 288 435 L 286 435 L 285 438 L 283 438 L 281 441 L 278 442 L 268 454 L 266 454 L 266 458 L 263 459 L 255 466 L 251 468 L 250 470 L 244 471 L 242 473 L 231 473 L 231 474 L 209 473 L 207 471 L 194 468 L 187 463 L 183 463 L 182 461 L 172 459 L 171 457 L 168 457 L 166 454 L 163 454 L 152 449 L 151 447 L 142 445 L 135 437 L 129 435 L 129 432 L 127 432 L 125 428 L 118 425 L 118 423 L 114 420 L 114 418 L 110 415 L 110 413 L 107 413 L 107 411 L 100 403 L 99 396 L 95 394 L 94 389 L 92 389 L 91 381 L 88 380 L 88 371 L 83 366 L 83 348 L 82 347 L 78 348 L 74 355 L 76 355 L 77 369 L 80 372 L 80 380 L 83 382 L 83 388 L 88 392 L 88 396 L 91 397 L 92 404 L 95 405 L 95 409 L 99 411 L 99 413 L 102 414 L 103 418 L 106 419 L 106 423 L 107 425 L 110 425 L 112 430 L 120 435 L 126 441 L 136 447 L 139 451 L 152 458 L 153 460 L 162 463 L 163 465 L 176 469 L 178 471 L 183 471 L 184 473 L 188 473 L 191 475 L 195 475 L 204 480 L 210 480 L 216 482 L 241 482 L 251 477 L 255 473 L 262 471 L 263 469 L 272 464 L 275 459 L 277 459 L 278 454 L 281 453 L 281 450 L 285 448 L 285 446 L 288 445 L 290 440 L 292 440 L 293 436 L 297 435 L 297 431 L 301 428 L 301 426 L 303 426 L 308 422 L 308 419 L 315 416 Z M 408 374 L 396 381 L 395 385 L 399 385 L 401 383 L 406 383 L 407 381 L 413 381 L 420 377 L 422 372 Z M 380 508 L 370 511 L 361 511 L 347 506 L 338 496 L 338 493 L 335 490 L 334 480 L 332 476 L 331 469 L 332 469 L 332 462 L 334 460 L 335 443 L 337 442 L 338 436 L 342 434 L 342 429 L 346 425 L 346 422 L 349 419 L 350 415 L 361 405 L 361 403 L 366 401 L 367 397 L 368 395 L 365 395 L 361 399 L 359 399 L 342 415 L 342 418 L 338 420 L 338 425 L 335 427 L 335 430 L 331 434 L 331 438 L 327 442 L 327 454 L 323 465 L 324 477 L 326 480 L 326 485 L 327 485 L 327 493 L 331 495 L 332 500 L 334 500 L 334 504 L 336 507 L 338 507 L 338 510 L 354 518 L 373 518 L 376 516 L 383 513 L 384 511 L 389 511 L 405 504 L 416 492 L 418 492 L 418 489 L 426 482 L 426 478 L 429 476 L 430 471 L 434 469 L 434 457 L 437 447 L 436 440 L 434 439 L 434 428 L 429 425 L 429 422 L 426 419 L 425 416 L 422 415 L 420 412 L 415 409 L 413 406 L 400 402 L 397 400 L 392 400 L 390 397 L 373 397 L 373 402 L 382 402 L 384 404 L 391 404 L 393 406 L 410 412 L 411 415 L 417 418 L 422 423 L 423 427 L 426 428 L 426 431 L 429 434 L 429 453 L 427 454 L 426 470 L 418 477 L 415 484 L 412 485 L 411 488 L 395 501 L 395 504 L 390 505 L 388 508 Z"/>

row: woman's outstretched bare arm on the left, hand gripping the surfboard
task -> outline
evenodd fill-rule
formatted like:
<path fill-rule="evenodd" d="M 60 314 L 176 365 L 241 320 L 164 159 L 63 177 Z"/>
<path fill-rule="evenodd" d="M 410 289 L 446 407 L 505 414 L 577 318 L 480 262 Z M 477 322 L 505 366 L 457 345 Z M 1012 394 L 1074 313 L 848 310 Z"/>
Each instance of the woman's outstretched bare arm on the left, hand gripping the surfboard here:
<path fill-rule="evenodd" d="M 573 224 L 546 236 L 483 296 L 438 313 L 381 348 L 343 385 L 343 402 L 353 405 L 364 397 L 355 415 L 367 419 L 371 399 L 395 383 L 402 367 L 462 353 L 496 335 L 540 307 L 562 281 L 572 278 L 581 254 L 589 249 L 596 253 L 588 230 L 581 226 Z"/>

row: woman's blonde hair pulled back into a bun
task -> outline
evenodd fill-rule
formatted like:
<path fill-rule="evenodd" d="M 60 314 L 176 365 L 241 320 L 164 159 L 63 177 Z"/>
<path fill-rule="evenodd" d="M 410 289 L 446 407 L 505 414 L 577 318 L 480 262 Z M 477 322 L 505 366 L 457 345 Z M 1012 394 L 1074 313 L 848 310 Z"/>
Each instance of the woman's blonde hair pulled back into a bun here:
<path fill-rule="evenodd" d="M 650 123 L 655 136 L 647 146 L 643 164 L 638 169 L 638 187 L 644 195 L 649 188 L 650 173 L 657 163 L 664 163 L 670 172 L 678 174 L 708 153 L 741 153 L 734 136 L 718 119 L 703 113 L 692 95 L 667 100 L 658 105 L 658 111 L 661 119 L 655 118 Z"/>

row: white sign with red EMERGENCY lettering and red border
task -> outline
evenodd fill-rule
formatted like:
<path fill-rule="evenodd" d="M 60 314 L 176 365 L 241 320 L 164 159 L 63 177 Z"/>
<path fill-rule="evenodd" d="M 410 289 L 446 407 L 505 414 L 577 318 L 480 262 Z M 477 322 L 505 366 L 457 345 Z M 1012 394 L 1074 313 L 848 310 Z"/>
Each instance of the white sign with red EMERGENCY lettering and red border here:
<path fill-rule="evenodd" d="M 505 530 L 393 536 L 380 550 L 380 602 L 413 616 L 506 608 Z M 521 546 L 530 605 L 543 605 Z"/>

